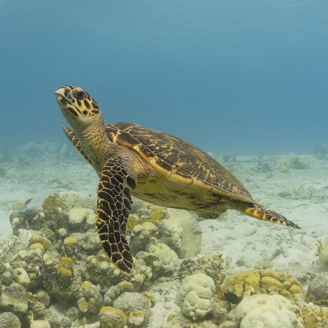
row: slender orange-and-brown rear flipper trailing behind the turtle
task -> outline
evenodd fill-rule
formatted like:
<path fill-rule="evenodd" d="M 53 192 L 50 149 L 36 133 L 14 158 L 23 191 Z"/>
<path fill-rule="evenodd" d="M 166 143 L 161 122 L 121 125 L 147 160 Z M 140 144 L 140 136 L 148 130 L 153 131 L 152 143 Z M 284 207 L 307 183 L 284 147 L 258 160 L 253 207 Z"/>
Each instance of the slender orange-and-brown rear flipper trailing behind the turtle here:
<path fill-rule="evenodd" d="M 291 227 L 294 229 L 301 229 L 294 222 L 286 219 L 279 213 L 265 209 L 263 206 L 255 203 L 239 203 L 237 211 L 244 213 L 246 215 L 255 217 L 259 220 L 270 221 L 274 223 L 281 224 L 282 226 Z"/>

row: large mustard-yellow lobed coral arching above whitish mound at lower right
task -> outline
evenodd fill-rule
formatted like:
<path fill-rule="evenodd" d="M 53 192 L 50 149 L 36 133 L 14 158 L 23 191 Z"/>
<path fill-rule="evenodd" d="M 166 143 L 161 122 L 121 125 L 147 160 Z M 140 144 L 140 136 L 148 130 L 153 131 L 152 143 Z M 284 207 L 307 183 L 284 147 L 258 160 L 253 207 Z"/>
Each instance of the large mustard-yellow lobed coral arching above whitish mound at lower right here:
<path fill-rule="evenodd" d="M 224 286 L 226 297 L 234 303 L 253 294 L 280 294 L 298 306 L 303 305 L 301 283 L 288 274 L 273 270 L 248 270 L 233 274 Z"/>

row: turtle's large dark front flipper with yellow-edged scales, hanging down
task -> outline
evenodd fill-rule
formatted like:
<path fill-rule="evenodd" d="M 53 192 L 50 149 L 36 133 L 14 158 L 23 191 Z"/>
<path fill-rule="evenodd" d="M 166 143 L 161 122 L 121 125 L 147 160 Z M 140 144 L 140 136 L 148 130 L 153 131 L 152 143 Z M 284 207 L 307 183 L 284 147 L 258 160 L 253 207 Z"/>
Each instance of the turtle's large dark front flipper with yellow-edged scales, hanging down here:
<path fill-rule="evenodd" d="M 130 274 L 132 254 L 125 236 L 136 183 L 121 156 L 107 160 L 97 188 L 96 225 L 104 250 L 116 267 Z"/>

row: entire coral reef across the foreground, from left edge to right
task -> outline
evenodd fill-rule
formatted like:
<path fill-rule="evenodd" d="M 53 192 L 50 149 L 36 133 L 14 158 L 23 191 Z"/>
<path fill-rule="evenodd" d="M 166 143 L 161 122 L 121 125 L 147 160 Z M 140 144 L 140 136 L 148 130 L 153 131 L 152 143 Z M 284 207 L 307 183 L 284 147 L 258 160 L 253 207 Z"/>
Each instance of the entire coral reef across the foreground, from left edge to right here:
<path fill-rule="evenodd" d="M 306 300 L 317 305 L 303 306 L 300 281 L 273 270 L 238 272 L 223 284 L 229 259 L 196 257 L 200 226 L 182 210 L 138 202 L 128 233 L 134 269 L 125 275 L 101 247 L 94 205 L 53 194 L 43 210 L 10 215 L 13 235 L 0 242 L 0 327 L 245 328 L 270 318 L 268 328 L 324 328 L 328 322 L 319 308 L 328 299 L 325 274 L 299 275 L 302 282 L 314 277 Z M 325 237 L 318 238 L 322 264 L 325 248 Z M 236 309 L 231 302 L 239 303 Z M 63 306 L 60 315 L 53 304 Z M 174 313 L 157 325 L 152 313 L 170 306 Z"/>

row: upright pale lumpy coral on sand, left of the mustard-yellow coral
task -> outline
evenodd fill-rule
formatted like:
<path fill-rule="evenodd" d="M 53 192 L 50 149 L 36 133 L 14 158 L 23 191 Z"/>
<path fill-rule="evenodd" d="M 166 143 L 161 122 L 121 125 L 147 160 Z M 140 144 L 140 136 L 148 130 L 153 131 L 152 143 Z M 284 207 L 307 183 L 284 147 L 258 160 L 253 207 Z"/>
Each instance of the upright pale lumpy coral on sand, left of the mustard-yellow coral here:
<path fill-rule="evenodd" d="M 177 303 L 182 307 L 183 314 L 197 320 L 210 312 L 214 291 L 213 279 L 203 273 L 196 273 L 183 281 Z"/>

